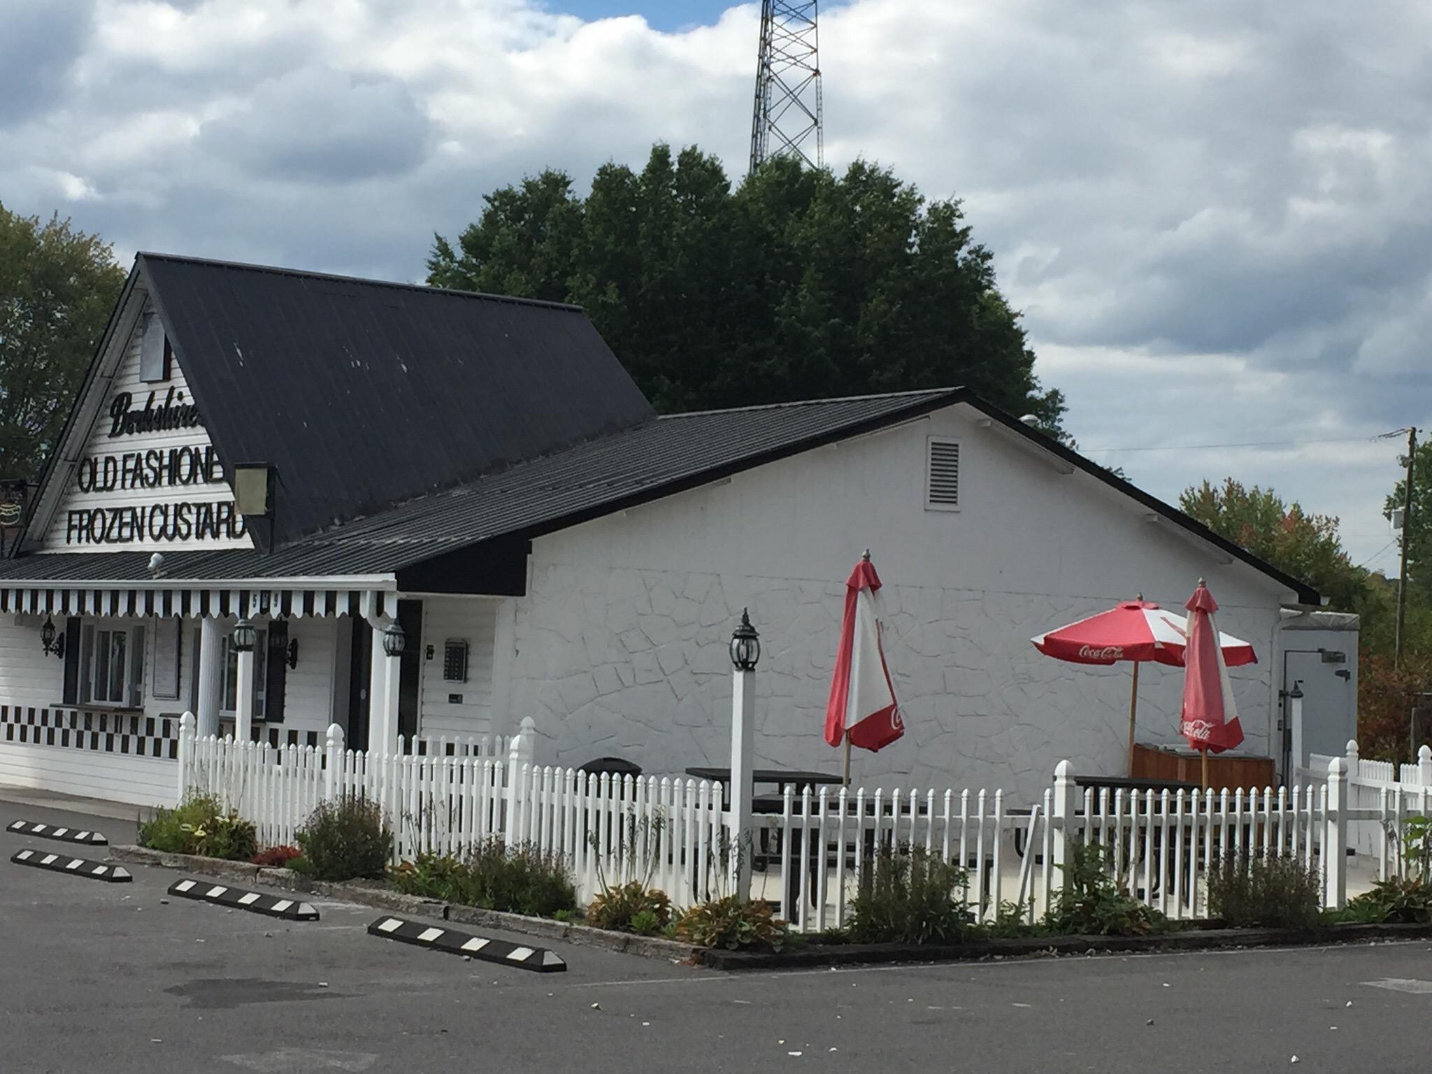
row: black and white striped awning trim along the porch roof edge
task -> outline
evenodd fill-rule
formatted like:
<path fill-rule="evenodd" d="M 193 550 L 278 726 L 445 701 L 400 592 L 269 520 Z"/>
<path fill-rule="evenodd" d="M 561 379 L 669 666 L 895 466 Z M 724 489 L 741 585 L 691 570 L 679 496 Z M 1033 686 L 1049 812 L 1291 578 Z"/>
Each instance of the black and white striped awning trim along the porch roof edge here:
<path fill-rule="evenodd" d="M 372 616 L 392 617 L 398 594 L 332 589 L 0 589 L 0 613 L 42 616 Z"/>

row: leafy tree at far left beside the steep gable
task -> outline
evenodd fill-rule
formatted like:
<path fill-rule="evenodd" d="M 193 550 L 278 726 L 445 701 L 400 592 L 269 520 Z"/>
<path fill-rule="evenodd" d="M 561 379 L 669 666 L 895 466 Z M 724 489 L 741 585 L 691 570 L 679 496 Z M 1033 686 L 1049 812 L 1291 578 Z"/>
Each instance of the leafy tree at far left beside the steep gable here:
<path fill-rule="evenodd" d="M 123 285 L 97 236 L 0 205 L 0 477 L 39 477 Z"/>

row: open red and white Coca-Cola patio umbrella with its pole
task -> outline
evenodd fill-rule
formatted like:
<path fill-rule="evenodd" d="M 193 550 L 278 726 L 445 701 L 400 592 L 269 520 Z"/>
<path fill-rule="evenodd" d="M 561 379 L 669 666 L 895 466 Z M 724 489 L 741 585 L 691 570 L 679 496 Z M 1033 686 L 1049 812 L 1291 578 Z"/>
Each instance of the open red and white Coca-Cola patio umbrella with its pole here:
<path fill-rule="evenodd" d="M 1223 662 L 1229 667 L 1257 663 L 1253 646 L 1232 634 L 1219 634 Z M 1154 662 L 1170 667 L 1183 666 L 1187 646 L 1187 621 L 1144 600 L 1140 593 L 1100 611 L 1097 616 L 1051 630 L 1031 639 L 1045 656 L 1077 664 L 1134 664 L 1134 682 L 1128 696 L 1128 772 L 1134 770 L 1134 725 L 1138 719 L 1138 664 Z"/>

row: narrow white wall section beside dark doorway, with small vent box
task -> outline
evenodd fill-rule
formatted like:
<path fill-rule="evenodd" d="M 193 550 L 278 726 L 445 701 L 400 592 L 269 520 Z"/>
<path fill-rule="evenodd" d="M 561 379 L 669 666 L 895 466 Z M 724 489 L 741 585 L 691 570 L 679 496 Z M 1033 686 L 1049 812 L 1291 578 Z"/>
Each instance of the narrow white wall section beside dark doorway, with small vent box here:
<path fill-rule="evenodd" d="M 432 659 L 422 660 L 418 735 L 467 737 L 494 730 L 493 640 L 500 607 L 501 601 L 471 597 L 422 600 L 422 644 L 432 646 Z M 442 677 L 442 646 L 450 637 L 468 644 L 465 683 Z M 454 695 L 463 700 L 450 702 Z"/>

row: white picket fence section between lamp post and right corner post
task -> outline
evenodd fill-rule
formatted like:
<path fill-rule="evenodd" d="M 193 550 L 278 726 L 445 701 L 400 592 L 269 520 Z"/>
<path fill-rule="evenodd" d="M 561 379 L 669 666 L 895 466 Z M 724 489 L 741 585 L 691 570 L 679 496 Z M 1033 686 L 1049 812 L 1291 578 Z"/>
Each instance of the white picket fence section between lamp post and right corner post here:
<path fill-rule="evenodd" d="M 1174 919 L 1207 916 L 1210 863 L 1296 855 L 1322 868 L 1326 786 L 1095 792 L 1080 790 L 1061 769 L 1067 785 L 1057 776 L 1044 800 L 1025 809 L 1007 809 L 998 790 L 788 790 L 782 815 L 760 818 L 776 833 L 788 878 L 779 892 L 785 912 L 803 932 L 846 924 L 872 855 L 898 846 L 922 846 L 959 865 L 967 878 L 959 895 L 981 922 L 1001 911 L 1024 921 L 1042 915 L 1075 842 L 1104 848 L 1127 889 Z M 1336 898 L 1336 878 L 1330 891 Z"/>

